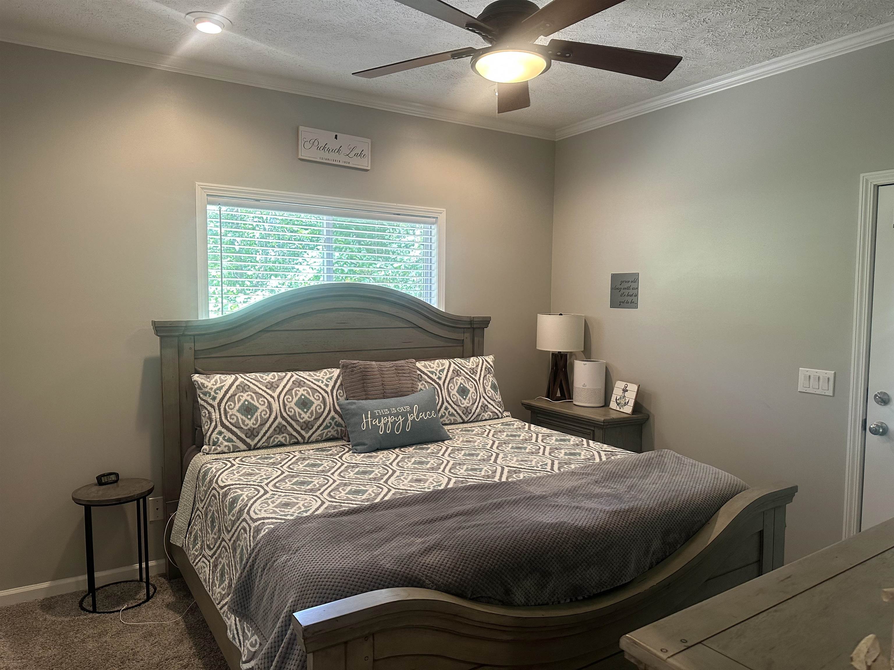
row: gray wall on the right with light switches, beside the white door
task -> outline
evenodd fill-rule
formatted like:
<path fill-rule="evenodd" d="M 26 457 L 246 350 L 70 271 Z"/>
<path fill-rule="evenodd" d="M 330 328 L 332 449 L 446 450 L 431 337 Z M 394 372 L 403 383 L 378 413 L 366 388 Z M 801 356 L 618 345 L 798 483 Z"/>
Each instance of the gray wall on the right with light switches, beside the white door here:
<path fill-rule="evenodd" d="M 787 558 L 841 538 L 858 176 L 894 168 L 894 42 L 562 140 L 552 310 L 642 384 L 650 448 L 795 482 Z M 640 272 L 637 310 L 611 272 Z M 797 393 L 834 370 L 834 398 Z"/>

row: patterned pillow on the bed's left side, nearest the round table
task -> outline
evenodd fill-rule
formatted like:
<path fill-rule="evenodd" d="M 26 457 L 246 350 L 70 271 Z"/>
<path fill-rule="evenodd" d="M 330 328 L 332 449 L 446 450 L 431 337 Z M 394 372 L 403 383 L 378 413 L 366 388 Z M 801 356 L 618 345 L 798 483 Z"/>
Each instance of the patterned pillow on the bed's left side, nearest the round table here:
<path fill-rule="evenodd" d="M 206 454 L 346 436 L 337 368 L 309 373 L 193 374 Z"/>

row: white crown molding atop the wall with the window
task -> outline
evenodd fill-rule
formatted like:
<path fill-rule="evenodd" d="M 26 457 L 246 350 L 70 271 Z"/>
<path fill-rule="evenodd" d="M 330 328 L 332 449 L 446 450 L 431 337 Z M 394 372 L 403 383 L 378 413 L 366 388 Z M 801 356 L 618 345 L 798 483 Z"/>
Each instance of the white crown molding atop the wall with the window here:
<path fill-rule="evenodd" d="M 460 125 L 474 126 L 475 128 L 484 128 L 486 130 L 498 130 L 500 132 L 508 132 L 514 135 L 525 135 L 531 138 L 555 139 L 553 130 L 548 128 L 512 123 L 510 121 L 502 121 L 500 119 L 460 112 L 458 110 L 444 109 L 433 105 L 421 105 L 419 103 L 370 96 L 346 88 L 335 88 L 308 81 L 264 75 L 223 65 L 205 63 L 203 61 L 184 58 L 182 56 L 157 54 L 155 52 L 137 49 L 131 46 L 105 44 L 93 40 L 68 38 L 59 35 L 44 35 L 9 28 L 0 29 L 0 42 L 12 42 L 13 44 L 22 46 L 35 46 L 40 49 L 61 51 L 66 54 L 101 58 L 105 61 L 129 63 L 131 65 L 140 65 L 143 67 L 155 68 L 156 70 L 179 72 L 180 74 L 190 74 L 195 77 L 205 77 L 206 79 L 212 80 L 229 81 L 233 84 L 243 84 L 245 86 L 254 86 L 257 88 L 269 88 L 274 91 L 294 93 L 299 96 L 318 97 L 324 100 L 345 103 L 347 105 L 372 107 L 373 109 L 381 109 L 385 112 L 409 114 L 411 116 L 434 119 L 435 121 L 459 123 Z"/>

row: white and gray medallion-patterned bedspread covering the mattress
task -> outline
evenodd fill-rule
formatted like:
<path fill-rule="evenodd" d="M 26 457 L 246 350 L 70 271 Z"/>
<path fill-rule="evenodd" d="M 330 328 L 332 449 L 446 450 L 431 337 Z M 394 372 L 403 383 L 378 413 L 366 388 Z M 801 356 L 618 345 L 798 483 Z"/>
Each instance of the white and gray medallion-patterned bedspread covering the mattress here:
<path fill-rule="evenodd" d="M 172 541 L 186 551 L 243 657 L 257 640 L 243 634 L 227 603 L 249 549 L 277 524 L 420 491 L 562 472 L 631 453 L 511 418 L 447 430 L 446 442 L 368 454 L 327 442 L 193 459 Z"/>

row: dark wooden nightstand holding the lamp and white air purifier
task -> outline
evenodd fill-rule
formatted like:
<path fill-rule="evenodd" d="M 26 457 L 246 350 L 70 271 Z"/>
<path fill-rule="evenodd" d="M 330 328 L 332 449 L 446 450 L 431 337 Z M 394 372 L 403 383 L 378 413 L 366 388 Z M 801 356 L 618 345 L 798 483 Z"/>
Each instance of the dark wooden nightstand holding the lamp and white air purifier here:
<path fill-rule="evenodd" d="M 531 413 L 531 423 L 553 431 L 577 435 L 611 447 L 640 453 L 643 450 L 645 412 L 626 415 L 609 407 L 580 407 L 574 403 L 553 403 L 544 398 L 522 400 Z"/>

